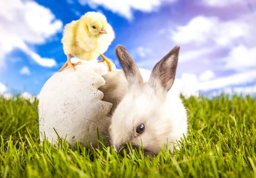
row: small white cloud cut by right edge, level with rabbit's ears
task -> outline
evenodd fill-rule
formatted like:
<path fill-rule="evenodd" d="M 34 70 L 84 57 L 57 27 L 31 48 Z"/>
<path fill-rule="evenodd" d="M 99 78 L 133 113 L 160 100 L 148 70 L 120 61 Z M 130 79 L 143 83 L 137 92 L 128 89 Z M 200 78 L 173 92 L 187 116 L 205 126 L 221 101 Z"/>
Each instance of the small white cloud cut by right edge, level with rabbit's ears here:
<path fill-rule="evenodd" d="M 246 70 L 248 68 L 256 68 L 256 46 L 247 48 L 244 45 L 234 47 L 227 57 L 225 68 L 235 69 L 237 71 Z"/>

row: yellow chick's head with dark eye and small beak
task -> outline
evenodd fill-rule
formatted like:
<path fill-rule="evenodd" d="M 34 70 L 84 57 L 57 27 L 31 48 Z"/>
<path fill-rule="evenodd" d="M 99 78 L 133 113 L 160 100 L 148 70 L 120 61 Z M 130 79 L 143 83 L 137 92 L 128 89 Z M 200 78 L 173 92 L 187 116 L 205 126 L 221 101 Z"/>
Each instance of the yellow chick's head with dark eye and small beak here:
<path fill-rule="evenodd" d="M 84 24 L 85 30 L 90 36 L 101 36 L 108 34 L 106 26 L 108 25 L 106 17 L 99 12 L 87 12 L 81 17 L 81 23 Z"/>

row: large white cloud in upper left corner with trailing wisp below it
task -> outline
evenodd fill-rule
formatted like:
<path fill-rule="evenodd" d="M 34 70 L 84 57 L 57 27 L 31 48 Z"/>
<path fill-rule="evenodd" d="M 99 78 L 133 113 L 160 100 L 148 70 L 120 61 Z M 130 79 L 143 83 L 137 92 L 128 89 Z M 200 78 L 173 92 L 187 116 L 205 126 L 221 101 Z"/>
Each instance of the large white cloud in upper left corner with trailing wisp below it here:
<path fill-rule="evenodd" d="M 2 0 L 0 7 L 0 67 L 5 64 L 6 54 L 15 48 L 20 48 L 39 65 L 56 65 L 54 59 L 42 58 L 27 44 L 44 44 L 62 29 L 61 20 L 56 20 L 49 8 L 31 0 Z"/>

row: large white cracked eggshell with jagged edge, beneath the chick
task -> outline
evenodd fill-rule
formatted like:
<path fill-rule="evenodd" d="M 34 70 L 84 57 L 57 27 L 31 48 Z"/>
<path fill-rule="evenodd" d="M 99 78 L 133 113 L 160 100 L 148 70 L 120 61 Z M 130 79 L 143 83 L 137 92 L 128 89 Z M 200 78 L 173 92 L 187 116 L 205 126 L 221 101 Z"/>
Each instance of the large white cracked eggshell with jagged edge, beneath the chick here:
<path fill-rule="evenodd" d="M 103 93 L 97 88 L 105 85 L 102 75 L 105 65 L 79 64 L 72 72 L 66 68 L 52 75 L 39 94 L 38 114 L 40 140 L 44 134 L 55 144 L 58 135 L 76 147 L 78 140 L 84 147 L 97 147 L 96 127 L 104 144 L 109 144 L 107 117 L 111 103 L 101 101 Z"/>

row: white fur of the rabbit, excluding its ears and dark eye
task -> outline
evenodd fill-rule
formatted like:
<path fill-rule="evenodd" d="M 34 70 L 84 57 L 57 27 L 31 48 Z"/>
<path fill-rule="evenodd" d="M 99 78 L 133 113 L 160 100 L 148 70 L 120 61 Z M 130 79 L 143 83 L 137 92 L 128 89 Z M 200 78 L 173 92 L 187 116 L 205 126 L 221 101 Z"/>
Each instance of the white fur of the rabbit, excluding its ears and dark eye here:
<path fill-rule="evenodd" d="M 111 143 L 114 149 L 118 150 L 120 145 L 129 141 L 135 146 L 141 146 L 140 139 L 142 139 L 143 148 L 150 153 L 157 154 L 160 148 L 167 144 L 168 138 L 169 149 L 173 152 L 173 144 L 171 142 L 177 143 L 180 137 L 183 138 L 183 134 L 187 136 L 186 109 L 176 90 L 171 88 L 167 93 L 166 101 L 163 102 L 146 83 L 151 72 L 140 68 L 140 73 L 143 77 L 144 85 L 134 85 L 130 90 L 128 90 L 123 72 L 112 72 L 111 79 L 108 74 L 103 76 L 106 84 L 111 83 L 112 86 L 120 86 L 120 83 L 125 84 L 125 87 L 119 87 L 115 90 L 116 93 L 112 93 L 112 95 L 119 96 L 119 101 L 121 102 L 112 116 L 112 123 L 109 129 Z M 118 80 L 115 80 L 115 78 L 118 78 Z M 120 79 L 124 82 L 120 82 Z M 105 89 L 103 93 L 107 91 Z M 118 93 L 122 93 L 122 95 L 118 95 Z M 112 98 L 112 96 L 110 97 Z M 145 123 L 145 131 L 140 136 L 136 136 L 134 129 L 141 123 Z"/>

